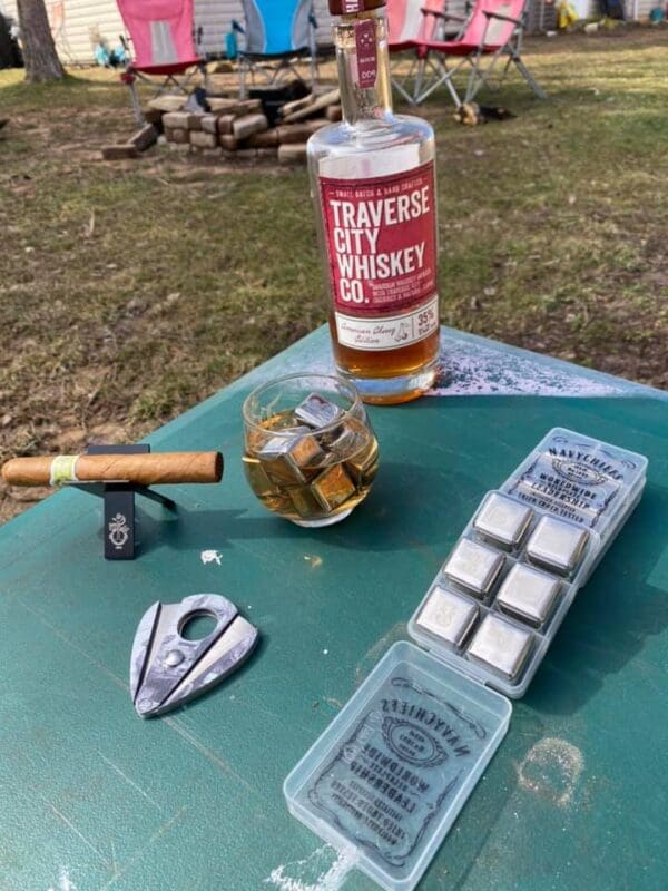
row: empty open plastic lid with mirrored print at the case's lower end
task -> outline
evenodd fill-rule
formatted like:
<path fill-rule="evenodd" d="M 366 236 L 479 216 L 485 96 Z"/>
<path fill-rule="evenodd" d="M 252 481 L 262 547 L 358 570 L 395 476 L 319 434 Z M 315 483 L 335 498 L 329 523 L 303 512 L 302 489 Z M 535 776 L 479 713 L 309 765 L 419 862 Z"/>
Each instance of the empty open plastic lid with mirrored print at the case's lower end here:
<path fill-rule="evenodd" d="M 284 783 L 291 812 L 389 891 L 419 882 L 505 735 L 511 704 L 407 642 Z"/>

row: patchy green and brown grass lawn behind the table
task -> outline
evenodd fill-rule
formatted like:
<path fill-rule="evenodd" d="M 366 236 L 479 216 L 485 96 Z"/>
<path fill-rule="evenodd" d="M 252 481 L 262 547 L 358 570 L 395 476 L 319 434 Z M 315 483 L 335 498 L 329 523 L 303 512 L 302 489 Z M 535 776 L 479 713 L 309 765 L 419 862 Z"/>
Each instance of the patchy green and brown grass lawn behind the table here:
<path fill-rule="evenodd" d="M 528 42 L 513 120 L 438 134 L 442 321 L 668 385 L 668 29 Z M 0 461 L 130 441 L 325 320 L 304 169 L 132 130 L 117 76 L 0 71 Z M 489 97 L 488 97 L 489 98 Z M 483 100 L 484 101 L 484 100 Z M 400 110 L 405 111 L 405 108 Z M 43 492 L 0 489 L 0 520 Z"/>

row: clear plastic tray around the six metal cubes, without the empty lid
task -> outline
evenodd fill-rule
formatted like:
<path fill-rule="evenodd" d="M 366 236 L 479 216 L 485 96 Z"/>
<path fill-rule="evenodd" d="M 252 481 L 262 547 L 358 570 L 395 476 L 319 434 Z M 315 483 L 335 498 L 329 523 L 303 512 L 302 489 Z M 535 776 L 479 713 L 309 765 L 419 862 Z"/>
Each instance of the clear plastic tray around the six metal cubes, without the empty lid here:
<path fill-rule="evenodd" d="M 439 659 L 478 678 L 482 684 L 513 698 L 523 696 L 578 589 L 590 577 L 640 500 L 646 478 L 647 459 L 641 454 L 589 439 L 571 430 L 551 430 L 498 491 L 484 496 L 411 617 L 410 636 Z M 511 536 L 502 536 L 502 531 L 514 531 L 522 526 L 519 521 L 513 523 L 512 509 L 508 511 L 511 519 L 503 521 L 501 516 L 497 538 L 490 533 L 493 517 L 491 523 L 484 522 L 481 528 L 479 518 L 485 512 L 491 499 L 500 502 L 508 500 L 510 506 L 530 511 L 521 535 L 512 542 L 509 542 Z M 541 523 L 546 522 L 567 533 L 572 530 L 573 540 L 578 536 L 584 536 L 583 547 L 570 570 L 556 564 L 550 566 L 544 559 L 537 558 L 532 541 L 536 540 Z M 501 569 L 482 593 L 468 588 L 456 576 L 448 575 L 451 558 L 458 552 L 462 541 L 482 546 L 502 559 Z M 543 621 L 536 624 L 522 620 L 517 614 L 510 615 L 508 607 L 504 608 L 499 603 L 499 593 L 515 566 L 538 570 L 559 584 L 553 607 Z M 443 635 L 438 634 L 434 629 L 435 623 L 424 620 L 432 598 L 440 596 L 436 590 L 439 588 L 456 593 L 478 607 L 478 619 L 459 646 L 453 646 Z M 490 615 L 530 636 L 523 660 L 511 676 L 474 658 L 477 635 Z M 504 648 L 505 640 L 500 636 L 500 658 Z"/>

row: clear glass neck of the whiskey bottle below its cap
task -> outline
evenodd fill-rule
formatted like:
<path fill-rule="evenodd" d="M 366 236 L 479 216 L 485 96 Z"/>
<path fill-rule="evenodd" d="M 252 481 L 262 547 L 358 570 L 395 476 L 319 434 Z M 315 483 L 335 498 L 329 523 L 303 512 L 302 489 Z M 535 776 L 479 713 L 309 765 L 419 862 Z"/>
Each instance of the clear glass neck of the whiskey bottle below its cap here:
<path fill-rule="evenodd" d="M 370 46 L 371 39 L 373 46 Z M 389 118 L 392 115 L 392 85 L 384 12 L 379 10 L 344 17 L 334 26 L 334 45 L 343 120 L 357 124 Z M 374 52 L 375 78 L 366 85 L 369 71 L 373 70 Z"/>

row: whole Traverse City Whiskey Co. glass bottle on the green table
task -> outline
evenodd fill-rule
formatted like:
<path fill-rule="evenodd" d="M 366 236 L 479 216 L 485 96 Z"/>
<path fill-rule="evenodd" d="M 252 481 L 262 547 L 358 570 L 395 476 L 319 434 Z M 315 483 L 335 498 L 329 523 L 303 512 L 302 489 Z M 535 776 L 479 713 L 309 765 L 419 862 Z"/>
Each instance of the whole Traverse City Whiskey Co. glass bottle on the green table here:
<path fill-rule="evenodd" d="M 416 399 L 439 355 L 434 135 L 394 115 L 385 0 L 330 0 L 343 120 L 308 140 L 337 371 L 365 402 Z"/>

